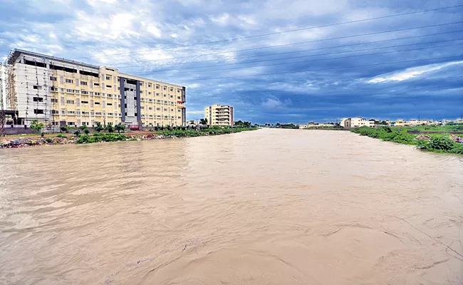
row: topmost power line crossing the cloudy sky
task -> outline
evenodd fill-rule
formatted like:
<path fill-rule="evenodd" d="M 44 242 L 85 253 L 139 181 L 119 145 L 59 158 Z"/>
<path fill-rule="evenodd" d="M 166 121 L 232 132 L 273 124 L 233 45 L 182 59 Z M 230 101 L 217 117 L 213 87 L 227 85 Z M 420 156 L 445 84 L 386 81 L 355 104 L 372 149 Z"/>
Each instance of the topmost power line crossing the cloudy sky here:
<path fill-rule="evenodd" d="M 306 31 L 306 30 L 310 30 L 310 29 L 313 29 L 313 28 L 326 28 L 326 27 L 329 27 L 329 26 L 340 26 L 340 25 L 345 25 L 345 24 L 360 23 L 360 22 L 364 22 L 364 21 L 373 21 L 373 20 L 387 19 L 387 18 L 392 18 L 392 17 L 397 17 L 397 16 L 406 16 L 406 15 L 420 14 L 420 13 L 425 13 L 425 12 L 430 12 L 430 11 L 439 11 L 439 10 L 444 10 L 444 9 L 452 9 L 452 8 L 458 8 L 458 7 L 462 7 L 462 6 L 463 6 L 463 4 L 462 5 L 455 5 L 455 6 L 446 6 L 446 7 L 440 7 L 440 8 L 435 8 L 435 9 L 413 11 L 413 12 L 407 12 L 407 13 L 401 13 L 401 14 L 392 14 L 392 15 L 387 15 L 387 16 L 379 16 L 379 17 L 375 17 L 375 18 L 360 19 L 360 20 L 355 20 L 355 21 L 345 21 L 345 22 L 340 22 L 340 23 L 335 23 L 335 24 L 326 24 L 326 25 L 321 25 L 321 26 L 311 26 L 311 27 L 307 27 L 307 28 L 296 28 L 296 29 L 292 29 L 292 30 L 279 31 L 279 32 L 273 32 L 273 33 L 261 33 L 259 35 L 254 35 L 254 36 L 244 36 L 244 37 L 239 37 L 239 38 L 229 38 L 229 39 L 225 39 L 225 40 L 208 41 L 208 42 L 203 42 L 203 43 L 192 43 L 192 44 L 183 45 L 183 46 L 172 46 L 170 48 L 157 48 L 157 49 L 153 49 L 151 51 L 165 51 L 167 49 L 173 49 L 173 48 L 186 48 L 186 47 L 189 47 L 189 46 L 200 46 L 200 45 L 211 44 L 211 43 L 223 43 L 223 42 L 227 42 L 227 41 L 238 41 L 238 40 L 243 40 L 243 39 L 247 39 L 247 38 L 258 38 L 258 37 L 261 37 L 261 36 L 271 36 L 271 35 L 276 35 L 276 34 L 281 34 L 281 33 L 291 33 L 291 32 L 294 32 L 294 31 Z M 154 42 L 147 42 L 147 43 L 154 43 Z M 129 52 L 129 53 L 131 53 L 131 52 Z M 127 54 L 127 53 L 113 53 L 113 54 L 109 54 L 109 55 L 105 55 L 105 56 L 117 56 L 117 55 L 120 55 L 120 54 Z M 80 58 L 94 58 L 94 57 L 95 56 L 84 56 L 84 57 L 80 57 Z M 101 56 L 98 56 L 98 57 L 101 57 Z M 76 59 L 78 59 L 78 58 L 76 58 Z"/>

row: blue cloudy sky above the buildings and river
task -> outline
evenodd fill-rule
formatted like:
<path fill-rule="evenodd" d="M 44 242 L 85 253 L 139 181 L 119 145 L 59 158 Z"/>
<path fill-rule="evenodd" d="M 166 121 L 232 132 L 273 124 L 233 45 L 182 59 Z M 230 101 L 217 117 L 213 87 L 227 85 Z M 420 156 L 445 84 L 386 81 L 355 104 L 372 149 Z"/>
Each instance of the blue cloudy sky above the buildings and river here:
<path fill-rule="evenodd" d="M 462 0 L 0 6 L 0 58 L 21 48 L 187 86 L 188 119 L 213 103 L 255 123 L 463 113 Z"/>

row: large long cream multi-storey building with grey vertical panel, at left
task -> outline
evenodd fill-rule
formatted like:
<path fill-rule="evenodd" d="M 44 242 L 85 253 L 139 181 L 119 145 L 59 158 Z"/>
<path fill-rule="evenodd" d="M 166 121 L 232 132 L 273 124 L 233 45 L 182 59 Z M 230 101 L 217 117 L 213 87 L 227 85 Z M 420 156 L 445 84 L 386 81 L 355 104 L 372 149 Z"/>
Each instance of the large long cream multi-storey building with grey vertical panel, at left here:
<path fill-rule="evenodd" d="M 12 51 L 6 63 L 6 109 L 16 124 L 185 125 L 183 86 L 30 51 Z"/>

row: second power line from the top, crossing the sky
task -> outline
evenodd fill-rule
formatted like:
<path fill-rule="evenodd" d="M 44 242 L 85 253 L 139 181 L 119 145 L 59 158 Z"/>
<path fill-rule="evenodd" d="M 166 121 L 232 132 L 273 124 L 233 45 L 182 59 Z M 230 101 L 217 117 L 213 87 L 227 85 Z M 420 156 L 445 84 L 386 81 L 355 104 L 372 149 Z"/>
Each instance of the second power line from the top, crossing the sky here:
<path fill-rule="evenodd" d="M 266 49 L 266 48 L 279 48 L 281 46 L 293 46 L 293 45 L 298 45 L 298 44 L 303 44 L 303 43 L 317 43 L 317 42 L 321 42 L 321 41 L 332 41 L 332 40 L 338 40 L 338 39 L 343 39 L 343 38 L 355 38 L 355 37 L 358 37 L 358 36 L 373 36 L 373 35 L 377 35 L 377 34 L 380 34 L 380 33 L 392 33 L 392 32 L 396 32 L 396 31 L 409 31 L 409 30 L 415 30 L 417 28 L 431 28 L 431 27 L 436 27 L 436 26 L 447 26 L 447 25 L 462 24 L 462 23 L 463 23 L 463 21 L 457 21 L 457 22 L 451 22 L 451 23 L 434 24 L 434 25 L 427 25 L 427 26 L 418 26 L 418 27 L 412 27 L 412 28 L 399 28 L 399 29 L 390 30 L 390 31 L 377 31 L 377 32 L 373 32 L 373 33 L 360 33 L 358 35 L 353 35 L 353 36 L 338 36 L 338 37 L 335 37 L 335 38 L 322 38 L 322 39 L 319 39 L 319 40 L 301 41 L 301 42 L 298 42 L 298 43 L 285 43 L 285 44 L 275 45 L 275 46 L 261 46 L 261 47 L 257 47 L 257 48 L 244 48 L 244 49 L 238 49 L 238 50 L 234 50 L 234 51 L 221 51 L 221 52 L 217 52 L 217 53 L 204 53 L 204 54 L 200 54 L 200 55 L 196 55 L 196 56 L 179 56 L 179 57 L 176 57 L 176 58 L 159 58 L 159 59 L 152 59 L 150 61 L 145 61 L 145 62 L 166 61 L 166 60 L 180 59 L 180 58 L 194 58 L 194 57 L 199 57 L 199 56 L 213 56 L 213 55 L 224 54 L 224 53 L 236 53 L 238 51 L 256 51 L 256 50 Z M 131 62 L 125 62 L 125 63 L 131 63 Z M 113 65 L 113 67 L 118 67 L 118 64 L 123 64 L 123 63 L 116 63 L 115 65 Z"/>

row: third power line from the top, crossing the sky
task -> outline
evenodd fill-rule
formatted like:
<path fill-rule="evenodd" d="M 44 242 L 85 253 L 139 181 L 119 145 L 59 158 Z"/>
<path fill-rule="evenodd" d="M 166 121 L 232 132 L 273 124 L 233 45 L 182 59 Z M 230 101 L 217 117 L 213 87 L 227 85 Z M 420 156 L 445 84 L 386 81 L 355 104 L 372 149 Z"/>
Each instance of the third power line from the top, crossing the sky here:
<path fill-rule="evenodd" d="M 205 63 L 205 62 L 220 62 L 220 61 L 229 61 L 229 60 L 236 60 L 236 59 L 243 59 L 243 58 L 258 58 L 258 57 L 263 57 L 263 56 L 277 56 L 277 55 L 281 55 L 281 54 L 288 54 L 288 53 L 302 53 L 304 51 L 320 51 L 320 50 L 323 50 L 323 49 L 331 49 L 331 48 L 345 48 L 345 47 L 348 47 L 348 46 L 360 46 L 360 45 L 366 45 L 366 44 L 370 44 L 370 43 L 383 43 L 383 42 L 386 42 L 386 41 L 398 41 L 398 40 L 404 40 L 404 39 L 410 39 L 410 38 L 420 38 L 420 37 L 423 37 L 423 36 L 437 36 L 437 35 L 442 35 L 442 34 L 445 34 L 445 33 L 459 33 L 459 32 L 462 32 L 463 30 L 458 30 L 458 31 L 444 31 L 444 32 L 441 32 L 441 33 L 428 33 L 428 34 L 425 34 L 425 35 L 420 35 L 420 36 L 405 36 L 405 37 L 402 37 L 402 38 L 388 38 L 387 40 L 380 40 L 380 41 L 368 41 L 368 42 L 365 42 L 365 43 L 350 43 L 348 45 L 342 45 L 342 46 L 327 46 L 327 47 L 324 47 L 324 48 L 310 48 L 310 49 L 303 49 L 303 50 L 298 50 L 298 51 L 285 51 L 285 52 L 282 52 L 282 53 L 267 53 L 267 54 L 260 54 L 260 55 L 256 55 L 256 56 L 240 56 L 240 57 L 236 57 L 236 58 L 224 58 L 222 60 L 217 60 L 217 59 L 212 59 L 212 60 L 208 60 L 208 61 L 189 61 L 189 62 L 184 62 L 184 63 L 163 63 L 163 64 L 157 64 L 156 66 L 177 66 L 177 65 L 181 65 L 181 64 L 191 64 L 191 63 Z M 420 44 L 420 43 L 414 43 L 414 44 Z M 129 67 L 133 67 L 133 68 L 139 68 L 141 65 L 130 65 Z M 127 67 L 127 66 L 125 66 Z M 144 67 L 144 65 L 142 65 L 141 67 Z"/>

